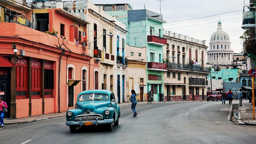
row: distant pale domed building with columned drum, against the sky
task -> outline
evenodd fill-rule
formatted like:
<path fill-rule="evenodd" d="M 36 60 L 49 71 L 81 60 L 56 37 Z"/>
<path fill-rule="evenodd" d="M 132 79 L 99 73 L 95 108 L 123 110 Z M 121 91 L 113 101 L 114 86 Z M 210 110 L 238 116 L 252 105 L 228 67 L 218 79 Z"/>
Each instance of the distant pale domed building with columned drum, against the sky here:
<path fill-rule="evenodd" d="M 222 30 L 221 22 L 218 22 L 218 29 L 210 38 L 209 50 L 207 50 L 207 64 L 211 66 L 225 66 L 233 62 L 234 51 L 230 47 L 230 38 Z"/>

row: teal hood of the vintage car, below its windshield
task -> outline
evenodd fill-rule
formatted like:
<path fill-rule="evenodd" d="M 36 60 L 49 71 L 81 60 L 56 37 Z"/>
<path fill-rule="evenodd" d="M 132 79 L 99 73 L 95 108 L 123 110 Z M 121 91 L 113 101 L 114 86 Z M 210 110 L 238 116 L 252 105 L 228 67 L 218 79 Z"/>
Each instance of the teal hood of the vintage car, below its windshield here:
<path fill-rule="evenodd" d="M 82 113 L 86 113 L 90 110 L 91 113 L 98 113 L 98 109 L 102 107 L 109 107 L 109 101 L 84 101 L 81 103 Z"/>

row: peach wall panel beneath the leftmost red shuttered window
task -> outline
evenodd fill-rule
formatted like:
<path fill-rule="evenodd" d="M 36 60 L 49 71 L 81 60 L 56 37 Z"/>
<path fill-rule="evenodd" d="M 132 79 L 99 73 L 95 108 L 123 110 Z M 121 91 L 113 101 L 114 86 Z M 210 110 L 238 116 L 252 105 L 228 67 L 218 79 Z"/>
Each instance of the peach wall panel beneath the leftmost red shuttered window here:
<path fill-rule="evenodd" d="M 29 116 L 29 99 L 16 99 L 16 117 Z"/>

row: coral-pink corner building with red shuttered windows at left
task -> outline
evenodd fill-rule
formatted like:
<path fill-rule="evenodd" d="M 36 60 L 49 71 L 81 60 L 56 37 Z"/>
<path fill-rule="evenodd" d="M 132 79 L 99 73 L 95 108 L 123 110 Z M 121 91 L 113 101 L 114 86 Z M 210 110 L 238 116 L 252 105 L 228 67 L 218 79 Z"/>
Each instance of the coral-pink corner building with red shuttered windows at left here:
<path fill-rule="evenodd" d="M 31 10 L 3 3 L 0 97 L 9 105 L 5 116 L 21 118 L 74 108 L 79 92 L 98 85 L 94 69 L 99 69 L 99 63 L 87 51 L 89 22 L 61 9 Z"/>

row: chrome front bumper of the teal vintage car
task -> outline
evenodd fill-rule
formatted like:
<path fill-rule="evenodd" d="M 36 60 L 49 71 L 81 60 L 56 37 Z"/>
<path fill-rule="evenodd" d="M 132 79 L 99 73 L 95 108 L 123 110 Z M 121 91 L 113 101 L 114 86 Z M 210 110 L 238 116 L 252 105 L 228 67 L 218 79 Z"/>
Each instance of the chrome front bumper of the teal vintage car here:
<path fill-rule="evenodd" d="M 79 122 L 67 121 L 66 125 L 68 125 L 68 126 L 84 126 L 85 125 L 84 122 L 92 122 L 92 125 L 97 125 L 98 126 L 98 124 L 110 124 L 110 123 L 113 123 L 114 122 L 114 118 L 112 118 L 112 119 L 104 119 L 102 121 L 98 121 L 97 119 L 96 119 L 96 121 L 79 121 Z"/>

